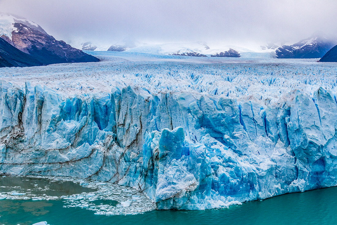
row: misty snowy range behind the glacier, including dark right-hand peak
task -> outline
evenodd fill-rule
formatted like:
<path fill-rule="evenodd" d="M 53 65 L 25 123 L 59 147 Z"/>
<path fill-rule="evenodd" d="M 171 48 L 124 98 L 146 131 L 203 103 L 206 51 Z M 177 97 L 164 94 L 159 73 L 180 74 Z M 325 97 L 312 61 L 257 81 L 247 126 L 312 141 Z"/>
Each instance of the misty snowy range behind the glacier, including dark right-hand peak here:
<path fill-rule="evenodd" d="M 268 58 L 320 58 L 337 44 L 337 39 L 313 36 L 293 45 L 268 43 L 254 50 L 238 46 L 212 48 L 204 42 L 138 45 L 125 43 L 110 46 L 108 51 L 129 51 L 150 54 L 194 57 L 268 57 Z M 86 50 L 83 48 L 83 50 Z"/>

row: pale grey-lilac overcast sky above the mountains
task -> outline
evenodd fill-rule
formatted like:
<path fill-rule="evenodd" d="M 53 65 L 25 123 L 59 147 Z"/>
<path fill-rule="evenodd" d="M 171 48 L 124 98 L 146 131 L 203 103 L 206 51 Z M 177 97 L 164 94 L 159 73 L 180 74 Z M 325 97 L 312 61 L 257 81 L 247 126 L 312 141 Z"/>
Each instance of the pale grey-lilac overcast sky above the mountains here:
<path fill-rule="evenodd" d="M 58 40 L 297 42 L 337 34 L 334 0 L 0 0 Z"/>

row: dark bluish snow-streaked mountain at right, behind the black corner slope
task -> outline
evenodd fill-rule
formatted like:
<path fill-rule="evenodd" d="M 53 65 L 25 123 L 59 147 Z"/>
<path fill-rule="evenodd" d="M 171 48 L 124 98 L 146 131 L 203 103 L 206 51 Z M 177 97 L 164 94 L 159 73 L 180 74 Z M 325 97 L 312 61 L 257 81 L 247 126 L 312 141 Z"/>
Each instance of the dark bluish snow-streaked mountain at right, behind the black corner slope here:
<path fill-rule="evenodd" d="M 311 37 L 276 49 L 277 58 L 320 58 L 337 44 L 337 39 Z"/>

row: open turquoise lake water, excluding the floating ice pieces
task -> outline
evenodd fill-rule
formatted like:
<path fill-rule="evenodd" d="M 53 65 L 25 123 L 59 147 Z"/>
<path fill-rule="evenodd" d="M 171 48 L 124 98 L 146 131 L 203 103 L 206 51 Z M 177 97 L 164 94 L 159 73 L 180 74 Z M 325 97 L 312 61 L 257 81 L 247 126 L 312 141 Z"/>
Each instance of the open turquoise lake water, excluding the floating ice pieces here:
<path fill-rule="evenodd" d="M 18 184 L 25 185 L 23 189 L 32 190 L 34 185 L 48 186 L 49 181 L 45 178 L 34 177 L 14 177 L 11 176 L 6 179 L 0 177 L 0 193 L 3 194 L 5 186 L 12 185 L 12 191 L 8 193 L 16 193 L 13 190 L 18 189 Z M 13 180 L 13 182 L 11 181 Z M 66 180 L 69 181 L 69 180 Z M 90 193 L 99 193 L 95 186 L 89 183 L 88 188 L 80 185 L 78 182 L 53 181 L 50 185 L 49 191 L 51 195 L 59 196 L 60 193 L 55 189 L 60 189 L 60 192 L 67 195 L 74 195 L 78 198 L 78 193 L 82 196 L 91 195 Z M 31 185 L 33 183 L 33 186 Z M 14 185 L 15 184 L 15 185 Z M 99 186 L 99 185 L 97 185 Z M 104 185 L 103 185 L 104 186 Z M 124 188 L 124 187 L 123 187 Z M 109 187 L 111 189 L 111 187 Z M 27 191 L 26 190 L 26 191 Z M 122 195 L 131 195 L 133 199 L 138 199 L 140 196 L 136 192 L 130 192 L 129 189 L 122 189 L 126 192 L 120 193 Z M 22 191 L 22 190 L 21 190 Z M 121 190 L 117 190 L 119 192 Z M 29 191 L 27 191 L 29 192 Z M 34 191 L 35 192 L 35 191 Z M 7 194 L 8 194 L 7 193 Z M 20 193 L 20 190 L 19 192 Z M 126 194 L 127 193 L 127 194 Z M 25 194 L 29 196 L 29 193 Z M 34 194 L 36 195 L 36 194 Z M 99 195 L 99 194 L 98 194 Z M 8 195 L 9 196 L 9 195 Z M 116 195 L 117 196 L 117 195 Z M 20 198 L 21 199 L 16 199 Z M 91 196 L 92 197 L 92 196 Z M 26 197 L 28 198 L 28 197 Z M 0 200 L 0 224 L 8 225 L 31 225 L 40 221 L 47 221 L 51 225 L 65 225 L 65 224 L 337 224 L 337 187 L 325 188 L 304 193 L 292 193 L 281 196 L 276 196 L 263 201 L 253 201 L 243 203 L 242 205 L 230 206 L 228 209 L 210 209 L 200 211 L 179 211 L 179 210 L 143 210 L 142 214 L 135 215 L 110 215 L 106 214 L 96 215 L 99 210 L 91 210 L 92 205 L 111 205 L 111 208 L 123 208 L 121 206 L 122 200 L 113 198 L 110 199 L 95 199 L 89 202 L 86 207 L 84 204 L 77 204 L 73 207 L 73 202 L 80 203 L 83 199 L 73 198 L 69 203 L 68 199 L 64 198 L 40 198 L 40 200 L 23 199 L 20 195 L 13 195 L 13 198 L 6 198 Z M 85 199 L 85 198 L 84 198 Z M 139 203 L 148 204 L 144 200 Z M 84 201 L 85 202 L 85 201 Z M 132 203 L 127 207 L 134 207 Z M 127 204 L 126 204 L 127 205 Z M 133 205 L 133 206 L 132 206 Z M 89 206 L 89 207 L 88 207 Z M 125 205 L 124 205 L 125 206 Z M 138 207 L 138 206 L 136 206 Z M 104 208 L 104 207 L 103 207 Z M 130 210 L 133 208 L 130 208 Z M 149 207 L 148 207 L 149 209 Z M 111 209 L 110 209 L 111 210 Z M 131 211 L 132 211 L 131 210 Z M 133 211 L 134 212 L 134 211 Z"/>

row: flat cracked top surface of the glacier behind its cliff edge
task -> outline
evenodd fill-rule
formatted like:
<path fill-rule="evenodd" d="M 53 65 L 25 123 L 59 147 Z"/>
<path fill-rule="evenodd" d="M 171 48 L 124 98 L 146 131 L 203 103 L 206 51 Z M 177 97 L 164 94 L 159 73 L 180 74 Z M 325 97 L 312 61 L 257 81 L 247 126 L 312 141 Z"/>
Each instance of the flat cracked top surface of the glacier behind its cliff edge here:
<path fill-rule="evenodd" d="M 277 102 L 291 90 L 313 95 L 321 86 L 337 90 L 337 63 L 318 59 L 249 59 L 90 52 L 101 62 L 1 68 L 0 79 L 40 84 L 66 95 L 111 92 L 116 86 L 211 94 Z M 24 77 L 24 79 L 23 79 Z"/>

